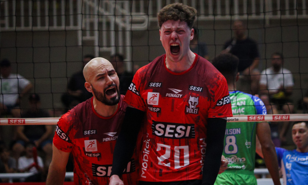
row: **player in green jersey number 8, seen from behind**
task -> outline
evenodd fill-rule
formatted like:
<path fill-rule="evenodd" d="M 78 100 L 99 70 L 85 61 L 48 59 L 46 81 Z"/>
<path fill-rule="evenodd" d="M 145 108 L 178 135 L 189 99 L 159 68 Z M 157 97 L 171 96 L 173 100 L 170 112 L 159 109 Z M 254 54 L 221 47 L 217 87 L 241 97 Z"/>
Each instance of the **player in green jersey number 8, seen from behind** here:
<path fill-rule="evenodd" d="M 229 165 L 224 173 L 217 176 L 215 185 L 257 185 L 253 173 L 256 134 L 260 139 L 265 164 L 274 184 L 280 184 L 278 161 L 274 143 L 271 140 L 270 126 L 267 122 L 262 122 L 264 116 L 261 115 L 266 114 L 264 103 L 256 96 L 236 90 L 238 58 L 235 55 L 229 53 L 218 55 L 213 60 L 213 65 L 227 80 L 233 115 L 256 114 L 256 116 L 249 116 L 249 119 L 261 121 L 227 123 L 223 155 L 229 160 Z"/>

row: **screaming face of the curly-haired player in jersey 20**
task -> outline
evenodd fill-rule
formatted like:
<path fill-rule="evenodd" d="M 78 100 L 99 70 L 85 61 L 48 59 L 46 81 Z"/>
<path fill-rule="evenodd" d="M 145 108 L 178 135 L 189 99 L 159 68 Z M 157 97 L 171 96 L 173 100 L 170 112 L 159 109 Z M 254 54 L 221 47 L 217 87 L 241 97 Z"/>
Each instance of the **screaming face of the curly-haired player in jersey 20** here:
<path fill-rule="evenodd" d="M 162 24 L 159 33 L 169 60 L 177 62 L 187 55 L 193 31 L 185 21 L 168 20 Z"/>

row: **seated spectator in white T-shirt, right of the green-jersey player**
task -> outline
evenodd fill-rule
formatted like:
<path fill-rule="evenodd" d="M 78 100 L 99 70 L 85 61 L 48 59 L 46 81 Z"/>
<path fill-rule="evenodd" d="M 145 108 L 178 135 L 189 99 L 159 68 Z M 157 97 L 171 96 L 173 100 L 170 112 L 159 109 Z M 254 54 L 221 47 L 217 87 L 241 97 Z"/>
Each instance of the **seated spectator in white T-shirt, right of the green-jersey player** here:
<path fill-rule="evenodd" d="M 283 66 L 283 56 L 281 53 L 271 55 L 272 67 L 261 72 L 260 94 L 269 97 L 270 102 L 282 109 L 283 113 L 290 114 L 294 111 L 294 105 L 290 100 L 294 85 L 292 73 Z M 289 122 L 283 123 L 279 132 L 281 141 L 286 141 L 285 134 Z"/>

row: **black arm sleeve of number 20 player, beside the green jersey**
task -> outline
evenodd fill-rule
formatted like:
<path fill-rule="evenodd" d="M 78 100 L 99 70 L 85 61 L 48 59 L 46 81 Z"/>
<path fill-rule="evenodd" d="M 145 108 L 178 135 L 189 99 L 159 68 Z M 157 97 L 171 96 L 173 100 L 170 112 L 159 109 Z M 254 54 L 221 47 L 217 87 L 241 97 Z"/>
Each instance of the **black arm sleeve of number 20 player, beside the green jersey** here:
<path fill-rule="evenodd" d="M 208 118 L 202 185 L 213 185 L 221 165 L 227 120 Z"/>

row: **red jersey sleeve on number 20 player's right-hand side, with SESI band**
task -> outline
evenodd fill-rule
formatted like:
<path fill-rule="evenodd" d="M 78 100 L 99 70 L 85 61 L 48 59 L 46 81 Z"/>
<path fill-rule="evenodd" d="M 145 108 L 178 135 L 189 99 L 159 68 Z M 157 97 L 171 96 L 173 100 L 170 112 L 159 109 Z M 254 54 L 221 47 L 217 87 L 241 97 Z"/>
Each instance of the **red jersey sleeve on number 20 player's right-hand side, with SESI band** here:
<path fill-rule="evenodd" d="M 212 90 L 210 90 L 211 93 Z M 216 89 L 213 89 L 214 100 L 210 101 L 208 117 L 232 117 L 228 84 L 224 77 L 217 80 Z"/>

